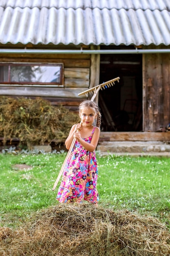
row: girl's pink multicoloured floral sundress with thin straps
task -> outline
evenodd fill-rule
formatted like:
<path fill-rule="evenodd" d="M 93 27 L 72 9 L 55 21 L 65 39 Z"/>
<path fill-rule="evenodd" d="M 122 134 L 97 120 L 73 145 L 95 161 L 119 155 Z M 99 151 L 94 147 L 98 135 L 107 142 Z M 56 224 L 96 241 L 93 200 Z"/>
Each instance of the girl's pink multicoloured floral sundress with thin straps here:
<path fill-rule="evenodd" d="M 94 131 L 95 128 L 91 136 L 84 139 L 86 142 L 91 143 Z M 98 168 L 95 151 L 86 150 L 76 139 L 64 168 L 56 200 L 62 203 L 81 203 L 82 200 L 97 203 L 99 200 L 96 188 L 97 175 Z"/>

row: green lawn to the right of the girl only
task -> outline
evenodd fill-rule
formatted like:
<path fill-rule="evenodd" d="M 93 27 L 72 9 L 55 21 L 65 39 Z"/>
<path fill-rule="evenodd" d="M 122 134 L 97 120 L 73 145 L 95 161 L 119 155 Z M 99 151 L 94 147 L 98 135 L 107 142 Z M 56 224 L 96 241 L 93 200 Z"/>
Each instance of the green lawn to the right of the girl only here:
<path fill-rule="evenodd" d="M 149 214 L 169 225 L 170 159 L 108 156 L 98 162 L 102 204 Z"/>

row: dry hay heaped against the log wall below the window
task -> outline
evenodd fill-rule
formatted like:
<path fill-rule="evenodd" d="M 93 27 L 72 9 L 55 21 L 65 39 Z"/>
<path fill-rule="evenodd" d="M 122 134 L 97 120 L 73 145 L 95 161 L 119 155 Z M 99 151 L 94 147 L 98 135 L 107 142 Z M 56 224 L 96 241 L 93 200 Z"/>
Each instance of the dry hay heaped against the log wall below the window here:
<path fill-rule="evenodd" d="M 18 138 L 20 144 L 43 145 L 44 142 L 65 141 L 79 116 L 63 106 L 52 106 L 42 98 L 0 97 L 0 137 Z"/>

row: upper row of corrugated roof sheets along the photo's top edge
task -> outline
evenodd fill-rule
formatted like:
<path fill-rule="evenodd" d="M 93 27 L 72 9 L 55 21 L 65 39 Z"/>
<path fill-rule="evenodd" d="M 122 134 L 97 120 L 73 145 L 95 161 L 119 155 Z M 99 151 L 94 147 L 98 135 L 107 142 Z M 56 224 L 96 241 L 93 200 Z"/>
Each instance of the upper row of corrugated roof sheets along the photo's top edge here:
<path fill-rule="evenodd" d="M 0 6 L 6 7 L 20 7 L 20 8 L 34 8 L 38 7 L 42 9 L 42 7 L 51 8 L 55 7 L 59 8 L 91 8 L 94 9 L 98 7 L 99 9 L 150 9 L 159 11 L 163 11 L 164 9 L 168 9 L 170 11 L 170 1 L 169 0 L 0 0 Z"/>

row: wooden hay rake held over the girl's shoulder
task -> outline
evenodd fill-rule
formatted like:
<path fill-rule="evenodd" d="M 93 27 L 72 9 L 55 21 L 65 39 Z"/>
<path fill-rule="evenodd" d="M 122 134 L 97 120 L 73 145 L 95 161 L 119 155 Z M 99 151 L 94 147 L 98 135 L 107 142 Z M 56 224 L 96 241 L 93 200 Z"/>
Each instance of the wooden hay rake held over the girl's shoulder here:
<path fill-rule="evenodd" d="M 115 81 L 118 81 L 118 82 L 119 82 L 119 79 L 120 79 L 120 78 L 117 77 L 117 78 L 114 78 L 114 79 L 112 79 L 112 80 L 109 80 L 109 81 L 107 81 L 107 82 L 105 82 L 105 83 L 101 83 L 101 84 L 99 84 L 99 85 L 97 85 L 97 86 L 95 86 L 95 87 L 93 87 L 93 88 L 91 88 L 91 89 L 88 89 L 88 90 L 86 90 L 86 91 L 84 91 L 84 92 L 79 93 L 78 95 L 80 96 L 80 95 L 85 94 L 85 95 L 88 96 L 89 93 L 90 93 L 90 94 L 93 94 L 93 96 L 92 96 L 92 98 L 91 98 L 91 101 L 94 101 L 94 99 L 95 99 L 95 97 L 96 97 L 96 95 L 97 95 L 97 93 L 99 92 L 100 89 L 101 89 L 101 90 L 102 90 L 102 89 L 106 89 L 106 88 L 109 88 L 109 87 L 115 85 Z M 80 124 L 81 124 L 81 123 L 80 123 Z M 77 131 L 79 131 L 79 129 L 77 129 Z M 58 184 L 58 182 L 59 182 L 59 180 L 60 180 L 60 177 L 61 177 L 61 175 L 62 175 L 62 173 L 63 173 L 63 171 L 64 171 L 64 167 L 65 167 L 65 165 L 66 165 L 66 162 L 67 162 L 68 158 L 69 158 L 70 155 L 71 155 L 71 151 L 72 151 L 72 149 L 73 149 L 73 147 L 74 147 L 75 141 L 76 141 L 76 138 L 74 138 L 73 141 L 72 141 L 72 143 L 71 143 L 71 146 L 70 146 L 70 148 L 69 148 L 69 150 L 68 150 L 68 153 L 67 153 L 66 158 L 65 158 L 65 160 L 64 160 L 64 163 L 63 163 L 63 165 L 62 165 L 62 168 L 61 168 L 61 170 L 60 170 L 60 173 L 58 174 L 57 180 L 55 181 L 55 184 L 54 184 L 54 186 L 53 186 L 53 190 L 56 188 L 56 186 L 57 186 L 57 184 Z"/>

